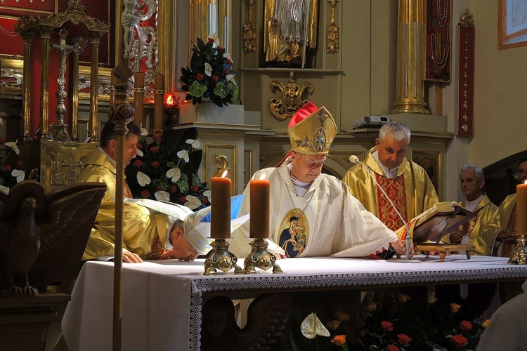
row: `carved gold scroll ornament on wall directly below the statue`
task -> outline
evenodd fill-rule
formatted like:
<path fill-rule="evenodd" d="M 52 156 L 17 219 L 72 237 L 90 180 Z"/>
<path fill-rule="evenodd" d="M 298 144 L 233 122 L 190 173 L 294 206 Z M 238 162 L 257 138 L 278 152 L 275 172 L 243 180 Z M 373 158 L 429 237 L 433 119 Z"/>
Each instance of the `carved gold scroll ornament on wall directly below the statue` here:
<path fill-rule="evenodd" d="M 282 93 L 282 98 L 272 98 L 269 101 L 269 108 L 273 117 L 279 121 L 292 117 L 300 107 L 306 105 L 308 100 L 302 99 L 304 92 L 313 93 L 315 91 L 315 87 L 309 82 L 299 86 L 292 73 L 289 75 L 289 81 L 286 85 L 282 84 L 281 81 L 271 81 L 271 91 L 274 91 L 275 88 L 278 88 Z"/>

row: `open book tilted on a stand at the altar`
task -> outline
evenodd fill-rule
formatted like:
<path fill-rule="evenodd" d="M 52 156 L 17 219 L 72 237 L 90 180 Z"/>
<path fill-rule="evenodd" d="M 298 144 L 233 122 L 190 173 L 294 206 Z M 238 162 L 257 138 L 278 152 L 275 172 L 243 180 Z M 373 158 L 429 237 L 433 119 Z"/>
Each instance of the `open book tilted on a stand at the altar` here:
<path fill-rule="evenodd" d="M 408 221 L 408 229 L 413 242 L 441 241 L 441 238 L 460 225 L 467 223 L 475 213 L 468 211 L 456 202 L 438 202 L 419 216 Z M 399 239 L 406 239 L 406 227 L 396 230 Z"/>

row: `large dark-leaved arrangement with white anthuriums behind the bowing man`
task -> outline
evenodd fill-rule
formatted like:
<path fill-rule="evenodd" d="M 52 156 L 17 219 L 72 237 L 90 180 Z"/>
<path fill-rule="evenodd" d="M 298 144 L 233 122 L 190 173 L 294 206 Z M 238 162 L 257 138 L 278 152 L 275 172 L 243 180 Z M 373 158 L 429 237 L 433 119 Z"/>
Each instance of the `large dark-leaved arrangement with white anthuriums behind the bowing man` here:
<path fill-rule="evenodd" d="M 176 143 L 176 131 L 155 131 L 153 143 L 141 140 L 140 153 L 124 170 L 134 198 L 171 201 L 195 211 L 210 206 L 211 191 L 197 175 L 202 150 L 194 134 L 188 129 Z"/>

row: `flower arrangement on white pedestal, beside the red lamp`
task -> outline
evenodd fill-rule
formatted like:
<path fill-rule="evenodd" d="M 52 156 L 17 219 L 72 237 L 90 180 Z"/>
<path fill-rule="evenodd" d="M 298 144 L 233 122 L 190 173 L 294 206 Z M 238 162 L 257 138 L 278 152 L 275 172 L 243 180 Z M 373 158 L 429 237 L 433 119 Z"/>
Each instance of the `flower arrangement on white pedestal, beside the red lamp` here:
<path fill-rule="evenodd" d="M 234 81 L 233 60 L 218 43 L 214 37 L 209 37 L 207 44 L 197 38 L 197 44 L 192 48 L 190 67 L 181 68 L 181 89 L 188 92 L 185 100 L 192 100 L 193 105 L 208 98 L 223 107 L 238 98 L 239 88 Z"/>

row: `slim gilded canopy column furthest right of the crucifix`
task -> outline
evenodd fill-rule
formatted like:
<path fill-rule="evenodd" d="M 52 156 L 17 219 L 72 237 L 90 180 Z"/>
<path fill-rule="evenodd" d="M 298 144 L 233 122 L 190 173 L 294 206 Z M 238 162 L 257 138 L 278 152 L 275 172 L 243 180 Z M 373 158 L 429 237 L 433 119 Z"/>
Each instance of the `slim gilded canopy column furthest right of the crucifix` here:
<path fill-rule="evenodd" d="M 102 33 L 91 32 L 90 33 L 90 44 L 91 44 L 91 70 L 90 70 L 90 121 L 88 125 L 88 133 L 90 135 L 90 142 L 95 143 L 99 141 L 99 130 L 98 130 L 98 106 L 99 106 L 99 44 Z"/>

